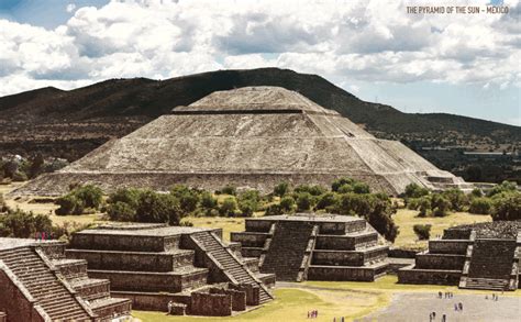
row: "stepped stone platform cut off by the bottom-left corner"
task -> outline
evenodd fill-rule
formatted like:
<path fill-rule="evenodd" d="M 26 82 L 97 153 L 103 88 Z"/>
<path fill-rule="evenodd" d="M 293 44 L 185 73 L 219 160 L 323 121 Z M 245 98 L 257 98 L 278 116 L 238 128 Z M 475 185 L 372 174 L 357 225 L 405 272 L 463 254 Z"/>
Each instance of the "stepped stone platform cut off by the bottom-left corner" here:
<path fill-rule="evenodd" d="M 0 238 L 0 321 L 110 321 L 130 317 L 128 299 L 87 276 L 87 262 L 67 259 L 65 244 Z M 2 318 L 3 315 L 3 318 Z"/>

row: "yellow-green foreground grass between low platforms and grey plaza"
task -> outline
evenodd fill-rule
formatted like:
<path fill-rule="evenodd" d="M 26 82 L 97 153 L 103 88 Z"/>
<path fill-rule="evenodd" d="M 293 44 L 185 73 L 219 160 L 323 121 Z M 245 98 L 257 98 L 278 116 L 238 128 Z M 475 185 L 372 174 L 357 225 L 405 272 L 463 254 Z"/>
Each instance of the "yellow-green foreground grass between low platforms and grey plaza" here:
<path fill-rule="evenodd" d="M 375 282 L 306 281 L 284 285 L 275 289 L 276 299 L 263 308 L 232 318 L 169 317 L 160 312 L 134 311 L 142 321 L 307 321 L 307 312 L 319 311 L 318 321 L 346 321 L 359 319 L 390 303 L 397 292 L 452 291 L 453 293 L 490 293 L 463 290 L 450 286 L 400 285 L 396 276 L 386 276 Z M 506 292 L 501 297 L 521 297 L 521 291 Z"/>

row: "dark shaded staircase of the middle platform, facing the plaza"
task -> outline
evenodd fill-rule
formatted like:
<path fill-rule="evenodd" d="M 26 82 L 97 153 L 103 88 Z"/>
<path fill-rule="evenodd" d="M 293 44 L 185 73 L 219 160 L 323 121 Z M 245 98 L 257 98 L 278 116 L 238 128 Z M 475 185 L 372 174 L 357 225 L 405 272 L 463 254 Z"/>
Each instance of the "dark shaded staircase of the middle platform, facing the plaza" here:
<path fill-rule="evenodd" d="M 260 271 L 274 273 L 277 280 L 301 281 L 299 273 L 306 270 L 309 264 L 304 263 L 306 251 L 313 229 L 314 225 L 303 221 L 277 222 Z"/>

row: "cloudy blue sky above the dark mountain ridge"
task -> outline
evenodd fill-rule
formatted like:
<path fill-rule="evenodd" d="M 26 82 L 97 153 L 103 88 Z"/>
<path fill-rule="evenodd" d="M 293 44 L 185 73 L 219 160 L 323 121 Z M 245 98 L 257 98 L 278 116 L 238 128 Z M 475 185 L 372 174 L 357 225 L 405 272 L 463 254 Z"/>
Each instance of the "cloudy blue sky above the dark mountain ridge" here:
<path fill-rule="evenodd" d="M 521 5 L 492 2 L 509 14 L 408 15 L 412 0 L 0 0 L 0 95 L 277 66 L 406 112 L 521 125 Z"/>

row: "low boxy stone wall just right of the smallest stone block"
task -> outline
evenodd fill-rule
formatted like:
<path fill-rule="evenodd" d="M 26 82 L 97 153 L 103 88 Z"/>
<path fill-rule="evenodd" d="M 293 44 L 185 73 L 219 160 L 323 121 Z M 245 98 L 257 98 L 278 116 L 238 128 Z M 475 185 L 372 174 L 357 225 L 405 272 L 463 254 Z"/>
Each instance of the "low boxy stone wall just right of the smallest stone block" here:
<path fill-rule="evenodd" d="M 190 314 L 230 317 L 232 315 L 232 297 L 230 295 L 192 292 Z"/>

